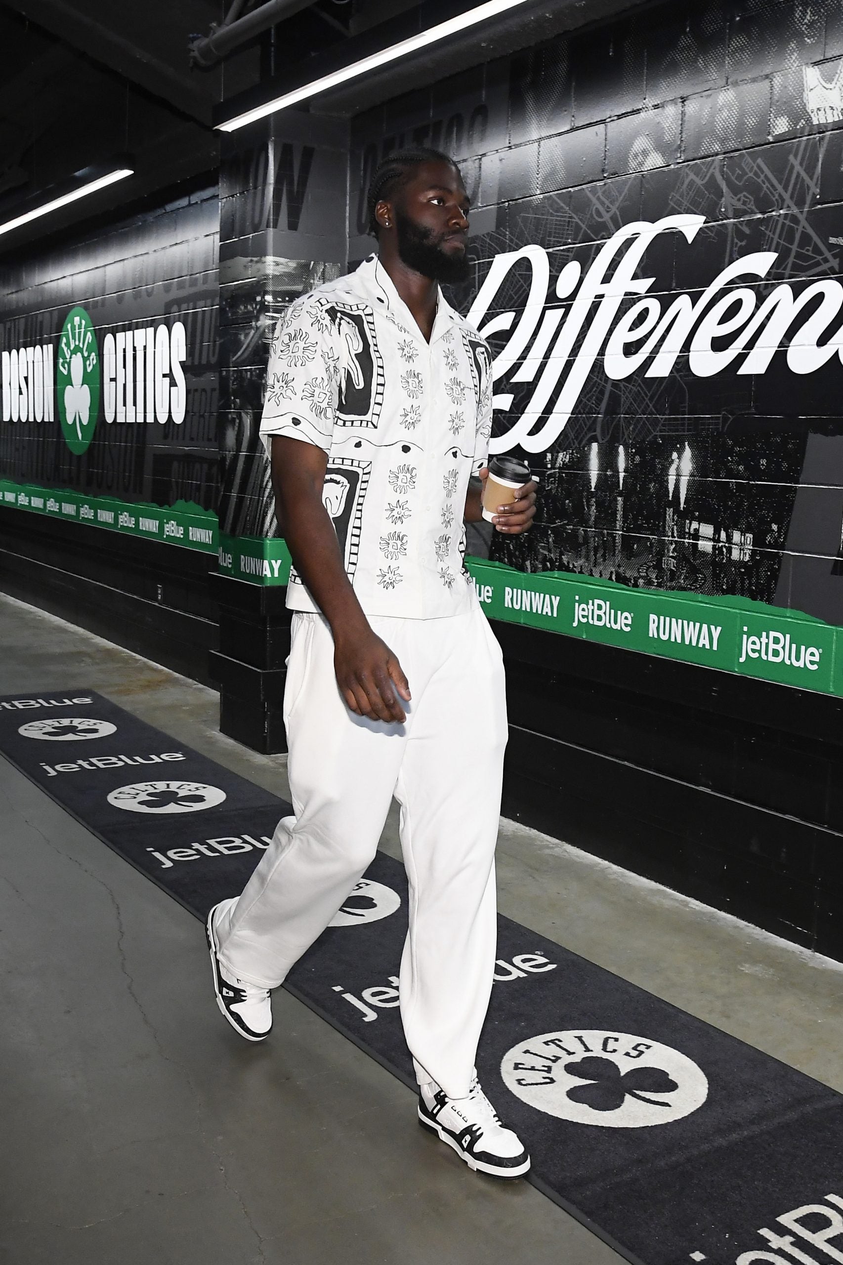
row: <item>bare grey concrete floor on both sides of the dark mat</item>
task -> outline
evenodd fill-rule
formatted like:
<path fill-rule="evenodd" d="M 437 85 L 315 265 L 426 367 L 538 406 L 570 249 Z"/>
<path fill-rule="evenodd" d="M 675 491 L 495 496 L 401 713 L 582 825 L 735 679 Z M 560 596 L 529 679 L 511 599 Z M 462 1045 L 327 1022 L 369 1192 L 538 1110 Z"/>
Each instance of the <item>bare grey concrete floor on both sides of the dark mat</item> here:
<path fill-rule="evenodd" d="M 0 596 L 0 694 L 90 687 L 286 794 L 218 700 Z M 414 1097 L 286 993 L 271 1044 L 220 1018 L 200 925 L 0 759 L 8 1265 L 610 1265 L 525 1183 L 471 1174 Z M 395 821 L 382 846 L 397 855 Z M 501 824 L 500 907 L 843 1090 L 843 968 Z"/>

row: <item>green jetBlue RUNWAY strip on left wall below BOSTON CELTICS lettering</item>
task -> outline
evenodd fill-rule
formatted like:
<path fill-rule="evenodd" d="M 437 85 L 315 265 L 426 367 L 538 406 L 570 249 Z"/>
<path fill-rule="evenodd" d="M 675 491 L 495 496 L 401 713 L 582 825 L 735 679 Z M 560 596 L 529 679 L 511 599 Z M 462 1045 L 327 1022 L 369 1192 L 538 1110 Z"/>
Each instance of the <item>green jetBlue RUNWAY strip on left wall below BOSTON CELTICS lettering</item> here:
<path fill-rule="evenodd" d="M 85 496 L 82 492 L 57 491 L 0 478 L 0 505 L 142 536 L 144 540 L 200 549 L 203 553 L 216 553 L 219 548 L 216 515 L 192 501 L 177 501 L 167 507 L 138 505 L 133 501 L 118 501 L 111 496 Z"/>

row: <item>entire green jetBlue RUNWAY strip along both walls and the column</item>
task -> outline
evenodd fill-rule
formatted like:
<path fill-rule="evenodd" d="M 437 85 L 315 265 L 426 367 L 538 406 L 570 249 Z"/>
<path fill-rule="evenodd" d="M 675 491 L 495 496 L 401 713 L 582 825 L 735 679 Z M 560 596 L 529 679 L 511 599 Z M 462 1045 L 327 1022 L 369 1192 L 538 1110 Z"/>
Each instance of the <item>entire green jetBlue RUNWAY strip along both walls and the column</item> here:
<path fill-rule="evenodd" d="M 216 516 L 187 501 L 162 509 L 0 479 L 0 503 L 218 553 L 223 574 L 252 584 L 290 577 L 284 540 L 219 533 Z M 490 619 L 843 697 L 843 627 L 810 615 L 568 572 L 527 574 L 481 558 L 466 565 Z"/>

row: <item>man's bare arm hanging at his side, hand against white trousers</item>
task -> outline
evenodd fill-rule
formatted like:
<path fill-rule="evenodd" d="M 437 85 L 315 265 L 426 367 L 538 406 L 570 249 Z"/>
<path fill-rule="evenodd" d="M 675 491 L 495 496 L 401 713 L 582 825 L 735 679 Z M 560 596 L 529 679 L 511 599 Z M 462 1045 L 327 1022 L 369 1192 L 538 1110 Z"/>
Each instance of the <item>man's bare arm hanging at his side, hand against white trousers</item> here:
<path fill-rule="evenodd" d="M 272 436 L 272 488 L 278 526 L 301 579 L 330 625 L 334 670 L 358 716 L 404 721 L 410 689 L 401 665 L 372 631 L 352 588 L 339 541 L 322 501 L 328 454 L 315 444 Z"/>

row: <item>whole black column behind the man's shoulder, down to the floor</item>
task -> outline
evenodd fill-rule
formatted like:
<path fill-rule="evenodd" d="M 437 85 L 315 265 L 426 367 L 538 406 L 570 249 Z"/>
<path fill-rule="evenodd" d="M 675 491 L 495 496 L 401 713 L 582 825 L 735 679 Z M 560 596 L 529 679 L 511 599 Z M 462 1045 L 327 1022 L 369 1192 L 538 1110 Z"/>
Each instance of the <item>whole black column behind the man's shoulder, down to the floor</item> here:
<path fill-rule="evenodd" d="M 258 435 L 272 330 L 344 271 L 348 125 L 282 111 L 227 137 L 220 168 L 220 730 L 284 751 L 287 554 Z"/>

